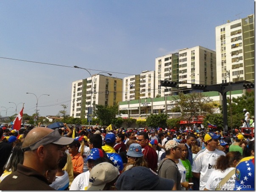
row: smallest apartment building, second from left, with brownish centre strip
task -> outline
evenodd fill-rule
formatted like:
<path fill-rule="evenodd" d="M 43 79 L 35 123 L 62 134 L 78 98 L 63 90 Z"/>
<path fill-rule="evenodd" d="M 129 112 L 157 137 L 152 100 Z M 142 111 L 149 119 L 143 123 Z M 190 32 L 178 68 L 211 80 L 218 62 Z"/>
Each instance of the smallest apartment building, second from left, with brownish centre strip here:
<path fill-rule="evenodd" d="M 154 97 L 155 71 L 142 71 L 141 74 L 124 78 L 122 101 Z"/>

